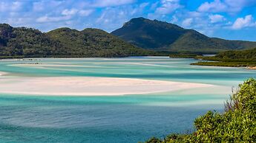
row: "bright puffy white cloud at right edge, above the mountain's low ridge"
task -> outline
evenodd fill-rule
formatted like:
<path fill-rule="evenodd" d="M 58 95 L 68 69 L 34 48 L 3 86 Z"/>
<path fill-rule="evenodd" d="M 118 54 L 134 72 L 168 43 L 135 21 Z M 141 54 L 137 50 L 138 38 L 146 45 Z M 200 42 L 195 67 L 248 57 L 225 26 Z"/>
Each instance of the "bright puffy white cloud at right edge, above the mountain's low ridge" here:
<path fill-rule="evenodd" d="M 244 27 L 255 27 L 256 22 L 253 21 L 252 15 L 246 15 L 245 18 L 237 18 L 232 25 L 232 29 L 242 29 Z"/>

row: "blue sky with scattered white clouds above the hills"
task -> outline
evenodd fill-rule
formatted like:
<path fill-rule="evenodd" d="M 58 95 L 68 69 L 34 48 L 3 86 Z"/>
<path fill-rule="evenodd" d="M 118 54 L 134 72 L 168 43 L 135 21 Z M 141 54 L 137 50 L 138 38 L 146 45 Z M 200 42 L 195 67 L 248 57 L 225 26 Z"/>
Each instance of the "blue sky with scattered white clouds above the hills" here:
<path fill-rule="evenodd" d="M 59 27 L 111 32 L 137 17 L 209 37 L 256 41 L 256 0 L 0 0 L 0 23 L 43 32 Z"/>

